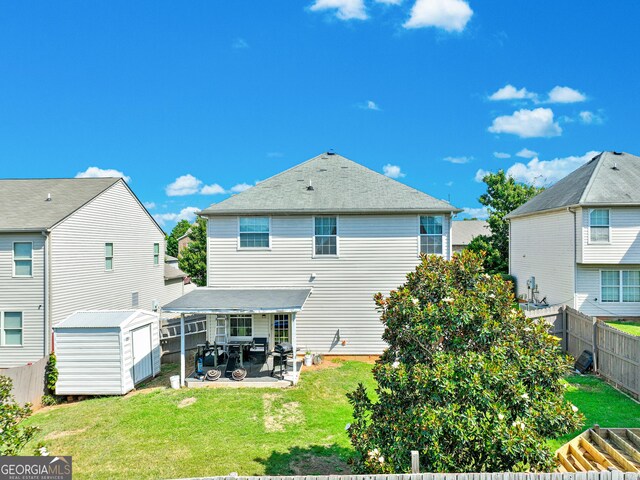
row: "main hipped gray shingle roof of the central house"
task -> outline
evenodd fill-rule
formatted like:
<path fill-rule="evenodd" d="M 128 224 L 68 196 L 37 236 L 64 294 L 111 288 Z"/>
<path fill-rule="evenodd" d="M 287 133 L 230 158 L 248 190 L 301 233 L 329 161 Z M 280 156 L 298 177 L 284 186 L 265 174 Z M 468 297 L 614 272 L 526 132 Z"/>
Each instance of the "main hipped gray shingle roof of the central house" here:
<path fill-rule="evenodd" d="M 311 184 L 312 189 L 309 188 Z M 204 209 L 202 215 L 458 212 L 341 155 L 322 154 Z"/>

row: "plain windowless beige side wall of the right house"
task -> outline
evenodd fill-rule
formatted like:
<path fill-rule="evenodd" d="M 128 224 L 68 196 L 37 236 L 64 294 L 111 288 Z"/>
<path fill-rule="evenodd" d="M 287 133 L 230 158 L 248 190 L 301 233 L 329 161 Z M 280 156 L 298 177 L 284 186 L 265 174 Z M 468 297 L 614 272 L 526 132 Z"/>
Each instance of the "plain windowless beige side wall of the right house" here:
<path fill-rule="evenodd" d="M 527 297 L 527 280 L 534 276 L 540 300 L 573 306 L 575 236 L 573 214 L 567 210 L 511 220 L 509 273 L 516 278 L 518 295 Z"/>

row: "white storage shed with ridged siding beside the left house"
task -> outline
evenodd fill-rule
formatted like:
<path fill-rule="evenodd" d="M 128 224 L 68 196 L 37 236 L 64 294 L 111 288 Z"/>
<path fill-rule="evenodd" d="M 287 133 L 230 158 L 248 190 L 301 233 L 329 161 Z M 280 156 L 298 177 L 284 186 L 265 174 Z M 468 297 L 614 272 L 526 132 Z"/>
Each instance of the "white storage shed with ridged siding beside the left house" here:
<path fill-rule="evenodd" d="M 123 395 L 157 375 L 159 323 L 145 310 L 95 310 L 55 325 L 56 394 Z"/>

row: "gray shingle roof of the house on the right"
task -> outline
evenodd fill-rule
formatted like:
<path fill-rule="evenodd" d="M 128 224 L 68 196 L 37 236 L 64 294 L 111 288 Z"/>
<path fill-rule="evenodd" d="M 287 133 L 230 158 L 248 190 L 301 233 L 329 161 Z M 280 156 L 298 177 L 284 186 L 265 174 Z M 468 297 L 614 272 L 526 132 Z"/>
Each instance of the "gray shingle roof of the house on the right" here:
<path fill-rule="evenodd" d="M 602 152 L 507 218 L 577 206 L 640 205 L 640 157 Z"/>

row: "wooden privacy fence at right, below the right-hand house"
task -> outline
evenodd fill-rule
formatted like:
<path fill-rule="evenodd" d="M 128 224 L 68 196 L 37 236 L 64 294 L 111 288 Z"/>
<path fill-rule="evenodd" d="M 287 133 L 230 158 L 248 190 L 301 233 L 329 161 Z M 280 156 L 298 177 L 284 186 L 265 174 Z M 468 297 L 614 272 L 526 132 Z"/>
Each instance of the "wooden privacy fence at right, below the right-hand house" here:
<path fill-rule="evenodd" d="M 525 312 L 542 317 L 562 348 L 575 358 L 584 350 L 593 353 L 594 371 L 636 398 L 640 398 L 640 337 L 610 327 L 595 317 L 566 306 Z"/>

